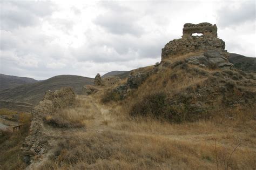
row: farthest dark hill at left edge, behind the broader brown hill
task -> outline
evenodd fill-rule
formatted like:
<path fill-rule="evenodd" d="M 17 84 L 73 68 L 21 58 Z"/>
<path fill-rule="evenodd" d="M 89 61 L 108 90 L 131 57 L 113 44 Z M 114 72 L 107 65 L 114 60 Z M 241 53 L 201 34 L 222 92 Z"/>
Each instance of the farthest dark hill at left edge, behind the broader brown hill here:
<path fill-rule="evenodd" d="M 0 90 L 10 89 L 23 84 L 36 83 L 37 80 L 28 77 L 0 74 Z"/>

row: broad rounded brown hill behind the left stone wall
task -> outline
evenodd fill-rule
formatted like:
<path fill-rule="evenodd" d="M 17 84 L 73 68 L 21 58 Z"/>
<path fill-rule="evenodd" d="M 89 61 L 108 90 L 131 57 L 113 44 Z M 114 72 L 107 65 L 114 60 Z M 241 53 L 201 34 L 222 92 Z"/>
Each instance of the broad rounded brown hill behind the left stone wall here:
<path fill-rule="evenodd" d="M 36 105 L 42 100 L 47 90 L 58 90 L 60 87 L 69 86 L 72 87 L 77 94 L 80 94 L 82 93 L 82 87 L 84 85 L 92 85 L 93 81 L 94 79 L 92 78 L 82 76 L 55 76 L 47 80 L 38 81 L 37 83 L 24 84 L 12 89 L 1 90 L 0 100 L 18 101 Z"/>

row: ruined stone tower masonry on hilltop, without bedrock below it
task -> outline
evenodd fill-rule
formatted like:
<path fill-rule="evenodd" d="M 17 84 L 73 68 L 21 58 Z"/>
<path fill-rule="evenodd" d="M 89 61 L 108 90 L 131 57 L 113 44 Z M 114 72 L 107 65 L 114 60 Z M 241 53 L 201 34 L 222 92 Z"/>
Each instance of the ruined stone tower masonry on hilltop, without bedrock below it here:
<path fill-rule="evenodd" d="M 192 36 L 193 33 L 202 33 L 202 36 Z M 217 26 L 211 23 L 184 24 L 183 36 L 167 43 L 162 49 L 161 60 L 175 58 L 191 52 L 217 50 L 228 58 L 225 42 L 217 37 Z"/>

